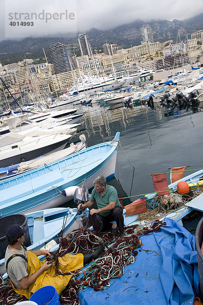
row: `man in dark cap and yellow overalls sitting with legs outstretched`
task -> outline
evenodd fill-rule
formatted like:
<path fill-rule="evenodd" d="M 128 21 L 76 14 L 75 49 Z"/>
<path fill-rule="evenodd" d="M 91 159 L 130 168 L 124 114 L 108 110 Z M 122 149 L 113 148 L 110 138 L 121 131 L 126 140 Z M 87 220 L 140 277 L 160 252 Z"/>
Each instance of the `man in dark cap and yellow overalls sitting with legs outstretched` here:
<path fill-rule="evenodd" d="M 30 250 L 28 251 L 23 242 L 28 227 L 11 225 L 7 230 L 7 247 L 5 254 L 5 266 L 9 280 L 16 293 L 24 295 L 27 299 L 36 290 L 51 285 L 60 294 L 69 283 L 72 275 L 57 275 L 54 264 L 48 261 L 40 261 L 37 256 L 50 256 L 49 250 Z M 92 259 L 95 259 L 104 250 L 104 241 L 99 242 L 98 248 L 88 254 L 66 254 L 58 258 L 61 273 L 74 271 Z"/>

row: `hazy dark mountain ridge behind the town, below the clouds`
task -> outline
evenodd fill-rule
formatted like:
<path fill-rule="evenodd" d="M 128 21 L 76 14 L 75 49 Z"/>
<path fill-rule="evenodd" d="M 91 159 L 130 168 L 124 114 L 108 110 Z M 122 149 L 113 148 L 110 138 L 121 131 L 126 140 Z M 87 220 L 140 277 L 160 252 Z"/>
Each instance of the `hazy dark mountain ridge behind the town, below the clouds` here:
<path fill-rule="evenodd" d="M 119 25 L 110 31 L 101 31 L 91 28 L 86 34 L 89 35 L 89 41 L 92 48 L 101 48 L 104 43 L 113 42 L 123 48 L 140 45 L 142 41 L 141 28 L 149 25 L 152 28 L 154 41 L 161 43 L 167 40 L 179 40 L 178 30 L 180 30 L 181 40 L 186 40 L 186 35 L 190 38 L 191 33 L 203 29 L 203 13 L 185 20 L 174 19 L 168 20 L 151 20 L 143 21 L 141 19 L 134 20 L 131 23 Z M 72 44 L 75 49 L 79 48 L 78 39 L 75 37 L 67 38 L 65 35 L 61 37 L 43 37 L 43 38 L 25 38 L 22 40 L 4 40 L 0 42 L 0 61 L 5 59 L 7 54 L 25 53 L 32 54 L 42 49 L 49 49 L 49 46 L 56 42 L 64 42 Z M 78 52 L 79 55 L 79 52 Z"/>

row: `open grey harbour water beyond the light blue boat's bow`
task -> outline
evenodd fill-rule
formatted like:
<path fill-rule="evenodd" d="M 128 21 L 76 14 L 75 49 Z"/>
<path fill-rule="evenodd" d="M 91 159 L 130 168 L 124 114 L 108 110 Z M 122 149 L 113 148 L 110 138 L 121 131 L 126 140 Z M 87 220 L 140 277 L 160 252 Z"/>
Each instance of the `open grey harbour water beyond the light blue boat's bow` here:
<path fill-rule="evenodd" d="M 81 119 L 87 146 L 111 141 L 120 132 L 116 178 L 127 196 L 154 192 L 152 173 L 170 172 L 171 167 L 188 167 L 188 175 L 203 168 L 203 112 L 175 109 L 169 111 L 155 103 L 112 109 L 112 106 L 73 105 L 84 112 Z M 64 107 L 64 106 L 63 106 Z M 119 107 L 119 105 L 116 105 Z M 124 152 L 123 152 L 124 151 Z M 126 157 L 127 156 L 127 157 Z M 130 160 L 131 164 L 128 161 Z M 170 174 L 166 174 L 170 184 Z M 124 196 L 124 195 L 123 195 Z M 138 197 L 132 197 L 131 201 Z"/>

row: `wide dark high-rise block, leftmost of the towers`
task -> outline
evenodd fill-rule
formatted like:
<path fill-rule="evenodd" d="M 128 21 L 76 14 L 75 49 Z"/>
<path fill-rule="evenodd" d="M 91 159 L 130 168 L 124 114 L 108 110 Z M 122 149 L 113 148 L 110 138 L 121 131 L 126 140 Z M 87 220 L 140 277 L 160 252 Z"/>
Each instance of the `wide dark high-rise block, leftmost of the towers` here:
<path fill-rule="evenodd" d="M 73 66 L 72 51 L 64 43 L 55 43 L 49 47 L 55 73 L 71 71 Z"/>

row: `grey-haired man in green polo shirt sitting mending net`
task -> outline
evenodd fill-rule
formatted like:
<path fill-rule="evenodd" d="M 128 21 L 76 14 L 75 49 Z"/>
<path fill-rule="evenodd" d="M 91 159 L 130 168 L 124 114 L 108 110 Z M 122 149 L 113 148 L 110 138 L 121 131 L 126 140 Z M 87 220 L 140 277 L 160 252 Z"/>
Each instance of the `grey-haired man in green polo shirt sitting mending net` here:
<path fill-rule="evenodd" d="M 90 200 L 85 204 L 79 204 L 78 209 L 92 206 L 95 202 L 97 209 L 92 208 L 90 215 L 95 215 L 96 224 L 93 222 L 93 227 L 96 230 L 98 227 L 102 231 L 111 229 L 119 230 L 120 237 L 124 237 L 124 219 L 123 208 L 118 200 L 118 194 L 113 186 L 107 185 L 107 180 L 104 176 L 98 176 L 93 181 L 94 189 L 91 193 Z M 112 224 L 116 221 L 116 225 Z"/>

